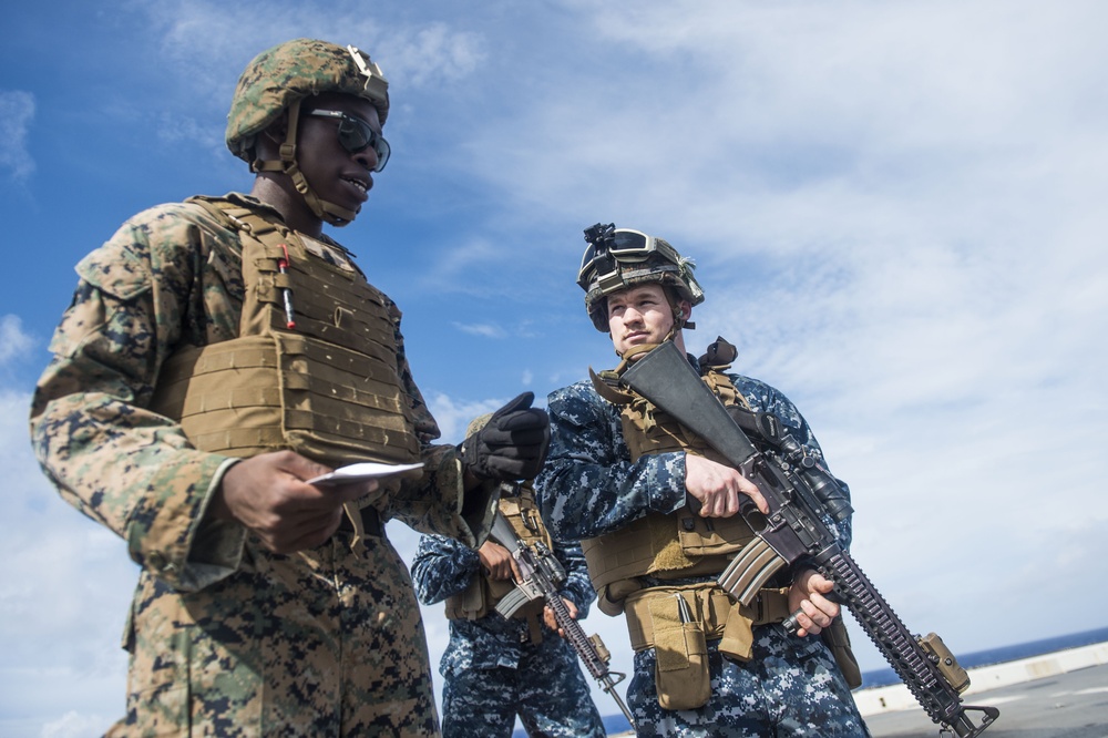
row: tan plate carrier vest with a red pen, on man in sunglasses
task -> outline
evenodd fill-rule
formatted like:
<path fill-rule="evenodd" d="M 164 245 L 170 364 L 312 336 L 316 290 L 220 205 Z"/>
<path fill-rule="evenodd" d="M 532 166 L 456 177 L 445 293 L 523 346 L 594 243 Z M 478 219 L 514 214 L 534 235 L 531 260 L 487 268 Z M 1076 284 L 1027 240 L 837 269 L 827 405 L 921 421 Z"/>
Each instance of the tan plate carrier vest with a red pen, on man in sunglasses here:
<path fill-rule="evenodd" d="M 393 316 L 345 249 L 225 198 L 188 202 L 239 233 L 239 335 L 179 347 L 162 367 L 151 409 L 177 420 L 197 449 L 228 457 L 291 449 L 330 467 L 418 462 Z M 286 325 L 283 290 L 295 309 L 294 329 Z M 383 508 L 397 484 L 393 478 L 348 505 L 359 537 L 357 510 Z"/>

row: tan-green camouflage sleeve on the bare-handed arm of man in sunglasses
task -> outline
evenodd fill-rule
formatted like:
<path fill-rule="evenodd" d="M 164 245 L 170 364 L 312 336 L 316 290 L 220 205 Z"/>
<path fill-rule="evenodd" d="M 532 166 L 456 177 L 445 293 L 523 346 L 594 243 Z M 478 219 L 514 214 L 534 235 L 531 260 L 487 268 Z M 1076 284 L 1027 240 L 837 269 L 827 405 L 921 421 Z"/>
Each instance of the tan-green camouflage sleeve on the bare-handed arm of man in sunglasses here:
<path fill-rule="evenodd" d="M 121 535 L 141 566 L 195 590 L 237 567 L 243 533 L 201 524 L 233 460 L 196 451 L 145 409 L 198 268 L 199 236 L 182 208 L 135 216 L 78 266 L 34 392 L 31 441 L 70 504 Z"/>

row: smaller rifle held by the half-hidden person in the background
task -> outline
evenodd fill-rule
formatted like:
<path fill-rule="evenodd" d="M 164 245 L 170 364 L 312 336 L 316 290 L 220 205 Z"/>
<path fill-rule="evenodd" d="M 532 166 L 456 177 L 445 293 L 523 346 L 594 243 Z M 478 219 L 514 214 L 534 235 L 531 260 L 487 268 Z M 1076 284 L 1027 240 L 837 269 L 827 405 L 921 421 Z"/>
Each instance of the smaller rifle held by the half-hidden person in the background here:
<path fill-rule="evenodd" d="M 546 606 L 553 611 L 558 627 L 565 633 L 565 639 L 585 664 L 585 668 L 604 691 L 612 695 L 612 699 L 616 700 L 627 722 L 634 729 L 635 720 L 630 716 L 630 710 L 616 691 L 616 685 L 623 681 L 626 675 L 608 669 L 612 655 L 601 640 L 601 636 L 586 636 L 581 624 L 570 615 L 570 608 L 558 594 L 558 587 L 565 582 L 565 570 L 554 557 L 554 553 L 542 541 L 536 542 L 534 547 L 523 543 L 499 511 L 492 525 L 491 536 L 512 553 L 523 575 L 523 582 L 515 583 L 515 588 L 496 605 L 496 612 L 504 617 L 511 617 L 529 602 L 543 598 Z"/>

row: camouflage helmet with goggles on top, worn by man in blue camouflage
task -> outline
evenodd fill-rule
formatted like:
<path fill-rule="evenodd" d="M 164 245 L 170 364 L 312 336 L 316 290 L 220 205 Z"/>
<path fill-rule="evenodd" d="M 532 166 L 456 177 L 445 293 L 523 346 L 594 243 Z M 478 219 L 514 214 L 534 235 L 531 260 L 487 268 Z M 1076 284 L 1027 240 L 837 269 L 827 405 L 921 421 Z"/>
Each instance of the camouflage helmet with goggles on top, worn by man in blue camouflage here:
<path fill-rule="evenodd" d="M 601 332 L 608 332 L 607 296 L 646 283 L 666 290 L 676 318 L 675 329 L 693 328 L 681 316 L 674 297 L 691 305 L 704 301 L 704 290 L 693 276 L 695 264 L 677 253 L 668 242 L 642 230 L 616 228 L 597 223 L 585 228 L 588 247 L 581 258 L 577 285 L 585 290 L 585 310 Z"/>

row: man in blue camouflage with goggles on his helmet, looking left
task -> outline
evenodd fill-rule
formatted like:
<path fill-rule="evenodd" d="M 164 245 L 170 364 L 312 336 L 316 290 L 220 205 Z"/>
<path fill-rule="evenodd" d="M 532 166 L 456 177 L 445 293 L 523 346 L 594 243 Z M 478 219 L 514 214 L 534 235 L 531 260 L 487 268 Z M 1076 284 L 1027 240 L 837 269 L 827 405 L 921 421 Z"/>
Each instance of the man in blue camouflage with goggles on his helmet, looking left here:
<path fill-rule="evenodd" d="M 626 615 L 635 649 L 627 701 L 638 735 L 868 736 L 843 676 L 858 675 L 839 606 L 823 596 L 831 583 L 802 568 L 768 583 L 751 607 L 730 599 L 716 576 L 753 535 L 736 514 L 739 495 L 762 512 L 765 499 L 617 381 L 628 360 L 663 341 L 686 352 L 683 329 L 704 300 L 691 262 L 637 230 L 597 224 L 586 239 L 578 285 L 623 361 L 550 394 L 551 448 L 535 488 L 554 536 L 583 543 L 597 606 Z M 772 413 L 822 459 L 792 402 L 728 373 L 733 358 L 720 338 L 689 361 L 726 406 Z M 837 532 L 849 543 L 849 522 Z M 789 635 L 780 623 L 797 609 L 801 627 Z"/>

